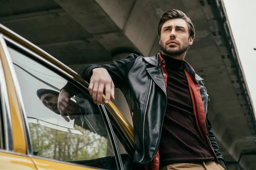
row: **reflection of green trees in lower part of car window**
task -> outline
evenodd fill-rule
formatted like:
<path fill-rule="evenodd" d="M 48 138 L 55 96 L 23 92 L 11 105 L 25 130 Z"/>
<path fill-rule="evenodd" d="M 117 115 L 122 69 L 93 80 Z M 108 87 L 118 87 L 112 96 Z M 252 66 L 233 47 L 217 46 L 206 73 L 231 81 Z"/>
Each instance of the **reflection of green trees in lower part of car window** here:
<path fill-rule="evenodd" d="M 29 123 L 33 151 L 38 156 L 62 161 L 96 159 L 107 156 L 108 139 L 75 125 L 82 134 Z"/>

